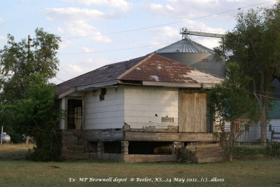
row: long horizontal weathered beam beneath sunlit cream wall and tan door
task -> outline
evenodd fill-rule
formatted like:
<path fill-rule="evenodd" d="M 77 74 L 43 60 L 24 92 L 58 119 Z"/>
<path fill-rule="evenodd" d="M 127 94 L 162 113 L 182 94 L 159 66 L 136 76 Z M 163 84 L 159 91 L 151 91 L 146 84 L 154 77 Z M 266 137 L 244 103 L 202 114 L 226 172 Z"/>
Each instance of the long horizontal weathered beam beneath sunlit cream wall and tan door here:
<path fill-rule="evenodd" d="M 127 141 L 216 141 L 213 133 L 124 132 Z"/>

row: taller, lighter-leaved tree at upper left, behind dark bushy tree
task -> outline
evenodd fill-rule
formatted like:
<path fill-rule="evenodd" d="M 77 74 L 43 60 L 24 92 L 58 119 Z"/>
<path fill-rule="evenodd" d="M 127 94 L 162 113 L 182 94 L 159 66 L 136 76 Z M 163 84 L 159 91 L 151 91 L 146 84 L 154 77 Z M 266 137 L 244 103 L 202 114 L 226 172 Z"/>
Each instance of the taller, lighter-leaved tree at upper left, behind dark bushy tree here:
<path fill-rule="evenodd" d="M 36 74 L 46 79 L 55 77 L 59 41 L 59 36 L 43 29 L 36 29 L 31 41 L 16 42 L 14 36 L 8 34 L 7 45 L 0 50 L 2 104 L 21 99 Z"/>

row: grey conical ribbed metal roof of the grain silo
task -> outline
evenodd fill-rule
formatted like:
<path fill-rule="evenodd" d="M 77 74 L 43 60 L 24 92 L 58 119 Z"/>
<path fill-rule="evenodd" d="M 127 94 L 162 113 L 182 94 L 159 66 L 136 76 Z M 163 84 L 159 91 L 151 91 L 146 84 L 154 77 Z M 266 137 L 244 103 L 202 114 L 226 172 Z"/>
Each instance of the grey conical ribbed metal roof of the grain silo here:
<path fill-rule="evenodd" d="M 190 40 L 188 37 L 172 43 L 165 48 L 161 48 L 155 53 L 214 53 L 214 50 L 211 50 L 205 46 L 202 46 L 200 43 Z"/>

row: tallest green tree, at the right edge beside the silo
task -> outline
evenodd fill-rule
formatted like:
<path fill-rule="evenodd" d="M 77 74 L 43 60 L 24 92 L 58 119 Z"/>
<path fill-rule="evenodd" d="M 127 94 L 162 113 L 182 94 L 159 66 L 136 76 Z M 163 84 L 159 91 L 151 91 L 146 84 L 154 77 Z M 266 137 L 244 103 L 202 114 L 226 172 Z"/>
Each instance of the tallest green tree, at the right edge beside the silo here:
<path fill-rule="evenodd" d="M 246 86 L 258 102 L 262 115 L 261 141 L 266 141 L 269 97 L 272 96 L 272 81 L 280 74 L 280 2 L 272 8 L 249 10 L 237 15 L 237 25 L 228 32 L 223 43 L 216 48 L 228 62 L 235 61 L 241 74 L 251 78 Z"/>

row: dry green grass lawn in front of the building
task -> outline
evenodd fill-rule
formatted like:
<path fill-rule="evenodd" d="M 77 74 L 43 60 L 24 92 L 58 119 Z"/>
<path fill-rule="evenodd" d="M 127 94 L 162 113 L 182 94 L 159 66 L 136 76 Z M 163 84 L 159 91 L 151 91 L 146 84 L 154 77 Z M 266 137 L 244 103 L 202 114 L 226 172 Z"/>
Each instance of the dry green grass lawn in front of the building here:
<path fill-rule="evenodd" d="M 2 148 L 3 149 L 3 148 Z M 2 153 L 0 146 L 0 155 Z M 0 186 L 280 186 L 280 160 L 234 160 L 214 164 L 123 163 L 101 160 L 31 162 L 1 160 Z M 69 182 L 69 178 L 127 178 L 127 182 Z M 131 182 L 131 178 L 153 182 Z M 162 179 L 212 179 L 223 182 L 155 182 Z"/>

